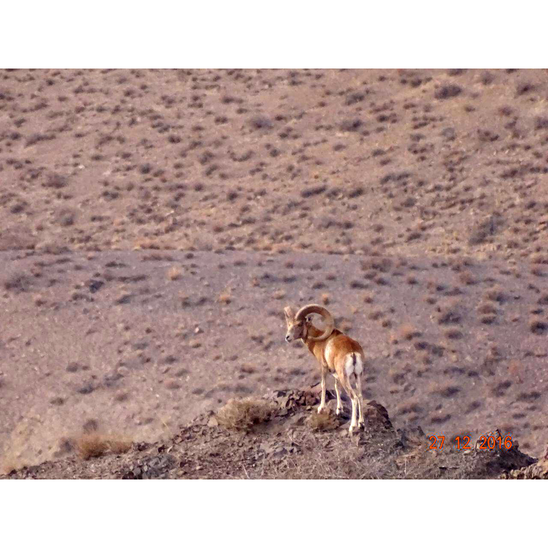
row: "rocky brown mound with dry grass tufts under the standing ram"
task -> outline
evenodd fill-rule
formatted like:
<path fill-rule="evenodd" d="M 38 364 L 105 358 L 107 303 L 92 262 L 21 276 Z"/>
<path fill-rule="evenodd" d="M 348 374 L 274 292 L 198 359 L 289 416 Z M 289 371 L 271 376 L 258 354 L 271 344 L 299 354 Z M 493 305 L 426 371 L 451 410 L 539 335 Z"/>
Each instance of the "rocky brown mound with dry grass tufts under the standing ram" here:
<path fill-rule="evenodd" d="M 328 393 L 329 401 L 333 398 Z M 318 415 L 317 403 L 317 387 L 231 400 L 216 412 L 201 414 L 169 440 L 134 443 L 123 454 L 115 454 L 116 447 L 103 440 L 97 453 L 81 452 L 79 457 L 2 477 L 487 479 L 547 475 L 547 460 L 536 462 L 519 451 L 515 440 L 511 447 L 487 450 L 480 449 L 479 443 L 459 450 L 447 440 L 444 447 L 429 449 L 432 444 L 420 427 L 395 429 L 386 409 L 376 401 L 366 402 L 364 431 L 350 437 L 349 417 L 336 417 L 330 408 L 329 413 Z"/>

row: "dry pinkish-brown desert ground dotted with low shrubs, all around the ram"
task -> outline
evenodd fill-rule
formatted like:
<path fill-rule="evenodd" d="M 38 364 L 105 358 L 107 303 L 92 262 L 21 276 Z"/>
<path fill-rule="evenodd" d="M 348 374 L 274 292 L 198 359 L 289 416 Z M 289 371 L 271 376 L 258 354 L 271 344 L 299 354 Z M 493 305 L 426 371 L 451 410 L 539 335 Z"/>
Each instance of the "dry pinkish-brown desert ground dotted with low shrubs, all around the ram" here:
<path fill-rule="evenodd" d="M 228 471 L 183 477 L 334 475 L 296 439 L 261 474 L 226 464 L 298 432 L 350 443 L 359 477 L 438 477 L 401 472 L 419 427 L 541 458 L 547 101 L 547 71 L 522 69 L 1 71 L 0 472 L 131 477 L 179 436 Z M 310 302 L 362 343 L 390 434 L 312 432 L 312 401 L 264 432 L 209 423 L 319 381 L 284 341 L 284 306 Z M 82 460 L 97 433 L 132 449 Z"/>

